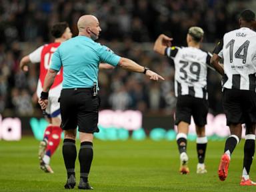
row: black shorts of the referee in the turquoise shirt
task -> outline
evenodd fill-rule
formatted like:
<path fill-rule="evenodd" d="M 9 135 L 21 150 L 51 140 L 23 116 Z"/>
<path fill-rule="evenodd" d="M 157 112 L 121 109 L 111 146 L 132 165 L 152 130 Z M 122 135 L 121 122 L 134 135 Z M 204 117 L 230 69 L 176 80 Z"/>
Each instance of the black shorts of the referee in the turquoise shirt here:
<path fill-rule="evenodd" d="M 99 97 L 92 88 L 62 89 L 60 97 L 61 128 L 83 133 L 99 132 Z"/>

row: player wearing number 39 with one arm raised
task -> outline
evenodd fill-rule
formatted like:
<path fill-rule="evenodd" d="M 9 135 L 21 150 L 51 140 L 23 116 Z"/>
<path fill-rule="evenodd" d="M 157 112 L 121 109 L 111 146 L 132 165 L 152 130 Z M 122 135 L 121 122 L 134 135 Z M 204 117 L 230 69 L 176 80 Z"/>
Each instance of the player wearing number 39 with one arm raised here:
<path fill-rule="evenodd" d="M 207 147 L 205 124 L 208 112 L 207 65 L 210 65 L 211 54 L 200 49 L 203 34 L 200 27 L 189 28 L 188 47 L 169 47 L 172 39 L 162 34 L 155 41 L 153 48 L 155 52 L 171 57 L 175 63 L 175 125 L 178 126 L 176 140 L 181 160 L 181 174 L 189 173 L 187 133 L 191 115 L 197 131 L 197 173 L 207 173 L 204 163 Z"/>

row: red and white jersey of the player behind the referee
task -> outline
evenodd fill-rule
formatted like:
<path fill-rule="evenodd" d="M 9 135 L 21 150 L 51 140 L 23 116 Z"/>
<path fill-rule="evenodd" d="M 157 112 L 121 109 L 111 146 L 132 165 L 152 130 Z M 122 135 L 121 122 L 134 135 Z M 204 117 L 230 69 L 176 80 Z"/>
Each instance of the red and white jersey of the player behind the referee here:
<path fill-rule="evenodd" d="M 45 81 L 47 71 L 51 65 L 51 57 L 59 45 L 61 45 L 61 43 L 49 43 L 37 48 L 35 51 L 29 54 L 31 63 L 40 62 L 40 74 L 37 83 L 37 97 L 40 97 L 41 91 L 43 91 L 43 83 Z M 55 77 L 55 81 L 49 90 L 49 97 L 59 97 L 59 95 L 61 95 L 62 81 L 63 68 L 61 68 Z"/>

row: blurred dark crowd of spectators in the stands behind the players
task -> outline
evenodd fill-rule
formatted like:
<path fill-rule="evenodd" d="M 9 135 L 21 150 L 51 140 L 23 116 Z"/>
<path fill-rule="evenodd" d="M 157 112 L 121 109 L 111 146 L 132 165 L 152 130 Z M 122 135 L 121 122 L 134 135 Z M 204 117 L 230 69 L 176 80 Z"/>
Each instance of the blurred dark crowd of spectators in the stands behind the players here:
<path fill-rule="evenodd" d="M 234 15 L 245 7 L 256 7 L 255 4 L 249 0 L 0 0 L 0 113 L 40 115 L 39 106 L 33 103 L 37 101 L 33 93 L 39 65 L 30 65 L 29 73 L 24 73 L 19 69 L 21 57 L 52 41 L 49 29 L 53 23 L 67 21 L 76 36 L 78 18 L 93 14 L 101 21 L 100 43 L 165 77 L 165 81 L 153 83 L 141 74 L 118 67 L 100 71 L 101 109 L 172 114 L 176 103 L 173 61 L 153 53 L 154 39 L 165 33 L 173 37 L 175 45 L 185 45 L 187 29 L 199 26 L 205 30 L 204 48 L 212 51 L 213 46 L 208 43 L 215 43 L 226 31 L 237 28 Z M 220 80 L 220 76 L 209 71 L 213 114 L 223 110 Z"/>

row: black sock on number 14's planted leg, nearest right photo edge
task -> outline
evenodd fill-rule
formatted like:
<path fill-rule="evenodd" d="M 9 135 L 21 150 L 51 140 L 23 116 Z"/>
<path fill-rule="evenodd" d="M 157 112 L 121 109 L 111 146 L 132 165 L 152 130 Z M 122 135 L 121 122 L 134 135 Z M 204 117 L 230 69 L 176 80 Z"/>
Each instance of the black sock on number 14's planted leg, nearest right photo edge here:
<path fill-rule="evenodd" d="M 253 155 L 255 153 L 255 139 L 245 139 L 245 146 L 243 151 L 244 151 L 243 169 L 245 169 L 246 171 L 244 172 L 243 170 L 243 174 L 245 173 L 245 175 L 249 175 L 251 163 L 253 163 Z"/>

